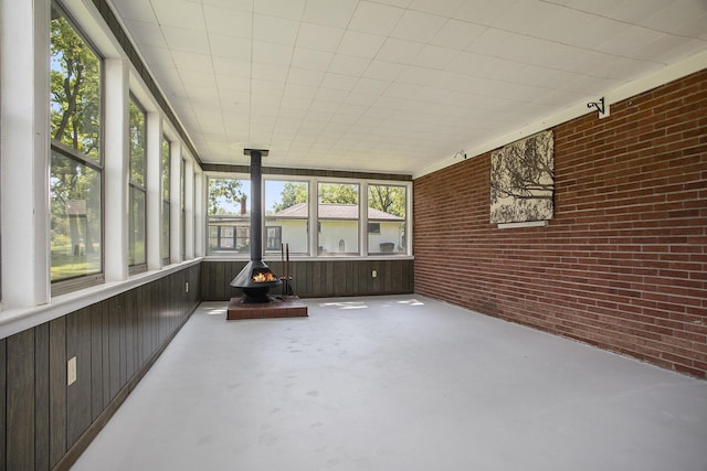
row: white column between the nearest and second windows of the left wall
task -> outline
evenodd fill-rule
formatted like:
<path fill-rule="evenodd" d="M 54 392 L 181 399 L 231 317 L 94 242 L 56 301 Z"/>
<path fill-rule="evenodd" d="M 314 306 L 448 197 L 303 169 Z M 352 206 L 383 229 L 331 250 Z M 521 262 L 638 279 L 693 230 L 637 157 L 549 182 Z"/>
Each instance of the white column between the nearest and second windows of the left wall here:
<path fill-rule="evenodd" d="M 123 60 L 105 64 L 105 277 L 128 278 L 128 67 Z"/>

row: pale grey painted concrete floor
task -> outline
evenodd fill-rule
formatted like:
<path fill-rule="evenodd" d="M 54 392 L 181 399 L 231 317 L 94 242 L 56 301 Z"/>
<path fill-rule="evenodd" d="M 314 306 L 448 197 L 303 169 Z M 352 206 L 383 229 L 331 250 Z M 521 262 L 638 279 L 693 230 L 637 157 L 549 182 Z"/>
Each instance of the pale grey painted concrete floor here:
<path fill-rule="evenodd" d="M 707 382 L 412 295 L 226 304 L 74 470 L 707 471 Z"/>

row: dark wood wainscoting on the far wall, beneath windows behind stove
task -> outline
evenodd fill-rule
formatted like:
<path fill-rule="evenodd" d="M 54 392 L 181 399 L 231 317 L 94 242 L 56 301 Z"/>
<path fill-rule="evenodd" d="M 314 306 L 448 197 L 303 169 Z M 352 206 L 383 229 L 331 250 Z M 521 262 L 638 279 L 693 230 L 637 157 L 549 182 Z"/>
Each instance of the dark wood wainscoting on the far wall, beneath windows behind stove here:
<path fill-rule="evenodd" d="M 229 282 L 246 260 L 201 263 L 201 296 L 204 301 L 228 301 L 241 290 Z M 266 261 L 284 276 L 281 261 Z M 404 295 L 414 290 L 413 259 L 293 260 L 289 264 L 295 295 L 300 298 L 339 296 Z M 377 276 L 373 278 L 372 272 Z"/>

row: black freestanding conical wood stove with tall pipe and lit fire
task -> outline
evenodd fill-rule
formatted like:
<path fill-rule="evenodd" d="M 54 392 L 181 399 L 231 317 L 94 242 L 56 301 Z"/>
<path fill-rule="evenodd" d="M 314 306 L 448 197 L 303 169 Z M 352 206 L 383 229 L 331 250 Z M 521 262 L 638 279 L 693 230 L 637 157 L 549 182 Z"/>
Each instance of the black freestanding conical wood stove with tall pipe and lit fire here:
<path fill-rule="evenodd" d="M 242 303 L 271 302 L 271 288 L 282 281 L 263 261 L 263 216 L 261 208 L 262 157 L 267 150 L 244 149 L 251 156 L 251 261 L 233 278 L 230 285 L 243 290 Z"/>

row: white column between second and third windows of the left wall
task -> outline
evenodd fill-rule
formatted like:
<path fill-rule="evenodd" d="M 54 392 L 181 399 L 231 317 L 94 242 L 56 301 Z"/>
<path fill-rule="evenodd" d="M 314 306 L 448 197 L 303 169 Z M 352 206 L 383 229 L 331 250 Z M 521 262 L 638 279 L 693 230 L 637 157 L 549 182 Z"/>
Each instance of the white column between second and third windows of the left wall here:
<path fill-rule="evenodd" d="M 147 269 L 162 266 L 162 121 L 158 113 L 147 114 Z"/>

